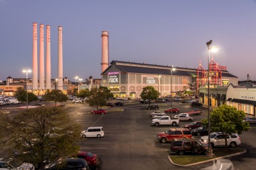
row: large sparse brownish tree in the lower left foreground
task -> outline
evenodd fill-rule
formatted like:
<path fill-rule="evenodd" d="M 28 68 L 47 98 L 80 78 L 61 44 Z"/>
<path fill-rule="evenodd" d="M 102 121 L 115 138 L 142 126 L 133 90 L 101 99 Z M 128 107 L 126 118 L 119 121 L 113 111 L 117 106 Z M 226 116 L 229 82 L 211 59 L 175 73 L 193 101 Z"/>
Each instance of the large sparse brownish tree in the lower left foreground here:
<path fill-rule="evenodd" d="M 22 162 L 38 168 L 59 158 L 77 153 L 81 126 L 65 108 L 40 107 L 24 110 L 10 116 L 0 113 L 2 149 Z M 19 154 L 11 154 L 15 151 Z"/>

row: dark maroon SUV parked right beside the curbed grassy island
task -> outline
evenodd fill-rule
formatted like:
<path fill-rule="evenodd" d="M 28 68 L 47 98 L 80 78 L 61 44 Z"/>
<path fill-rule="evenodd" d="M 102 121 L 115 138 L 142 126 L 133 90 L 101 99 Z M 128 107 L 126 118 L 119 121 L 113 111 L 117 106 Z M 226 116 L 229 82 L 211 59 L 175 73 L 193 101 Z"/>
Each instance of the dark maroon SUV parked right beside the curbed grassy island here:
<path fill-rule="evenodd" d="M 192 138 L 175 138 L 172 139 L 170 151 L 176 152 L 177 155 L 184 155 L 185 153 L 207 155 L 207 146 L 203 146 L 200 142 Z"/>

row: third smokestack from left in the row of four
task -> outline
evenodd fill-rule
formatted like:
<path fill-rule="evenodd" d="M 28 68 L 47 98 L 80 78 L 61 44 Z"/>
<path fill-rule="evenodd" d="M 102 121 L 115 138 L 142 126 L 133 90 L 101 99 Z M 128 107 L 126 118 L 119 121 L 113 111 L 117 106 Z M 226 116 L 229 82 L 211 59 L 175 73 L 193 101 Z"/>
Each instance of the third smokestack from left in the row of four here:
<path fill-rule="evenodd" d="M 46 89 L 51 89 L 51 26 L 46 25 Z"/>

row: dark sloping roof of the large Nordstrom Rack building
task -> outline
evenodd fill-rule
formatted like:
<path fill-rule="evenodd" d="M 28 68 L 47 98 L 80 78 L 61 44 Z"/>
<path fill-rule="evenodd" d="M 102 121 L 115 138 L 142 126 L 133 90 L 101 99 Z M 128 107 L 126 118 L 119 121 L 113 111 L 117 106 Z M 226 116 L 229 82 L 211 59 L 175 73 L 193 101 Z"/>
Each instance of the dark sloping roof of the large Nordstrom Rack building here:
<path fill-rule="evenodd" d="M 125 62 L 113 60 L 110 62 L 110 66 L 115 65 L 118 69 L 124 71 L 125 73 L 141 73 L 141 74 L 171 74 L 172 66 L 161 66 L 157 64 L 145 64 L 145 63 L 137 63 L 137 62 Z M 108 71 L 109 67 L 102 73 Z M 222 76 L 227 77 L 237 77 L 230 74 L 228 71 L 221 71 Z M 173 75 L 179 76 L 192 76 L 196 77 L 196 68 L 191 69 L 188 67 L 175 67 L 175 71 L 172 71 Z"/>

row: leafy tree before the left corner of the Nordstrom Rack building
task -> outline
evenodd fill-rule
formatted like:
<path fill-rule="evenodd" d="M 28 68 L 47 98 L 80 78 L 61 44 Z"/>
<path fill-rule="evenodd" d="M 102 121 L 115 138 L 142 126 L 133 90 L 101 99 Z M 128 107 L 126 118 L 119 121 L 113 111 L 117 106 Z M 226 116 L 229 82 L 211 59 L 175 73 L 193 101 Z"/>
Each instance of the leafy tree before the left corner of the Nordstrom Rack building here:
<path fill-rule="evenodd" d="M 97 109 L 99 106 L 106 105 L 106 97 L 108 96 L 108 92 L 104 92 L 104 90 L 92 89 L 90 91 L 90 97 L 86 100 L 86 103 L 89 106 L 96 106 Z"/>

